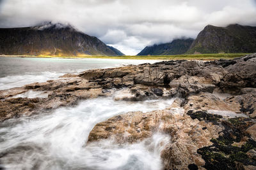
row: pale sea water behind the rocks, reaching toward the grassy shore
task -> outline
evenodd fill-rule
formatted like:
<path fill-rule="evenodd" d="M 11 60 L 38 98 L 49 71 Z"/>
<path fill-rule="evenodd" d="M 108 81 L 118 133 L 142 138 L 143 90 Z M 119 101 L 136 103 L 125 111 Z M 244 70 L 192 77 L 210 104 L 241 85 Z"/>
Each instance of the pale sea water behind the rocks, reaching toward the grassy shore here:
<path fill-rule="evenodd" d="M 77 74 L 88 69 L 119 67 L 145 62 L 154 63 L 157 61 L 0 57 L 0 90 L 57 79 L 67 73 Z"/>

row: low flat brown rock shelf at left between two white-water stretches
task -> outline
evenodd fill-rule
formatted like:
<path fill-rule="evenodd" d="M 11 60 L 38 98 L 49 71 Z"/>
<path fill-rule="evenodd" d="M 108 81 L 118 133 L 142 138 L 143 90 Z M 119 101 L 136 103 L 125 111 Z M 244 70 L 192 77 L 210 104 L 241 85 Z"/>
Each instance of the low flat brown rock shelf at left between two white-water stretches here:
<path fill-rule="evenodd" d="M 83 78 L 67 78 L 67 80 L 50 80 L 43 83 L 31 83 L 24 87 L 10 90 L 1 90 L 0 121 L 21 115 L 32 115 L 41 111 L 52 110 L 60 106 L 77 104 L 80 99 L 89 99 L 99 96 L 109 96 L 103 93 L 97 83 L 90 83 Z M 47 92 L 47 98 L 15 98 L 15 95 L 27 92 L 28 89 Z M 8 98 L 14 96 L 13 98 Z"/>

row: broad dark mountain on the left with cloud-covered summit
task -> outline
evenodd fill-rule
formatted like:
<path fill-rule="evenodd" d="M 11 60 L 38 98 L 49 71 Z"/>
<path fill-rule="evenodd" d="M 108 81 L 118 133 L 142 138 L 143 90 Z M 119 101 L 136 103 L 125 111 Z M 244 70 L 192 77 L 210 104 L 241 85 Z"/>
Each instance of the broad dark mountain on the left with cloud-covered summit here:
<path fill-rule="evenodd" d="M 98 38 L 71 25 L 47 22 L 35 27 L 0 29 L 0 54 L 4 55 L 124 55 Z"/>

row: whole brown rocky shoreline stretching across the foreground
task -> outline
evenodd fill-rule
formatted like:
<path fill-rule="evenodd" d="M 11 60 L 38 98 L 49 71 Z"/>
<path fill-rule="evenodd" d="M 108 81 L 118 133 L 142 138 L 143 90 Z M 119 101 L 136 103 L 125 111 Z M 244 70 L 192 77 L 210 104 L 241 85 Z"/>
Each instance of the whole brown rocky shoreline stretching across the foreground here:
<path fill-rule="evenodd" d="M 31 91 L 47 97 L 15 97 Z M 94 69 L 0 90 L 0 120 L 116 91 L 116 100 L 175 97 L 175 101 L 165 110 L 129 112 L 99 122 L 88 143 L 108 138 L 119 145 L 136 143 L 163 132 L 172 137 L 161 152 L 164 169 L 256 168 L 256 54 L 234 60 L 170 60 Z"/>

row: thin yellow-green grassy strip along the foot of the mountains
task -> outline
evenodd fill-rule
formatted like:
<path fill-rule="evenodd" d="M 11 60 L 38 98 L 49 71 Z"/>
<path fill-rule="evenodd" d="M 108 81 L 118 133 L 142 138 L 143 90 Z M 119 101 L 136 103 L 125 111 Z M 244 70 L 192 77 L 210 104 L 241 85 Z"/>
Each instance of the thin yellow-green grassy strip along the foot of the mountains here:
<path fill-rule="evenodd" d="M 0 55 L 0 57 L 40 57 L 60 59 L 135 59 L 135 60 L 220 60 L 234 59 L 250 53 L 207 53 L 207 54 L 182 54 L 182 55 L 124 55 L 124 56 L 51 56 L 51 55 Z"/>

